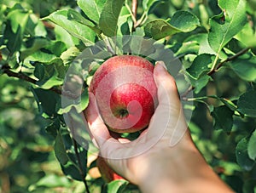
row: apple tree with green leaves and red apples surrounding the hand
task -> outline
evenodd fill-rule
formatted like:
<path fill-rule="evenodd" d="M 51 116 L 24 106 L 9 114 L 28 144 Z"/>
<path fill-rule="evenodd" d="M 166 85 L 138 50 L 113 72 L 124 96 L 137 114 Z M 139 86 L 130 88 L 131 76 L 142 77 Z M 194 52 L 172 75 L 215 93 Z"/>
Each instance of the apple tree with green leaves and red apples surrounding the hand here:
<path fill-rule="evenodd" d="M 84 111 L 91 92 L 109 132 L 136 140 L 158 62 L 212 170 L 256 192 L 255 0 L 0 2 L 0 193 L 140 192 L 99 155 Z"/>

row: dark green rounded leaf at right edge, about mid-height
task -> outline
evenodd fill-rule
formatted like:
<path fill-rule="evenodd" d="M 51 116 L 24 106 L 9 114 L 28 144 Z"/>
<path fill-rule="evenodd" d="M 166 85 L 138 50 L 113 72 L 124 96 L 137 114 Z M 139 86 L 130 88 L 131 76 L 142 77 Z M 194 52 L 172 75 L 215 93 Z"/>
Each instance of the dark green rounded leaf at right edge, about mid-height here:
<path fill-rule="evenodd" d="M 238 111 L 246 116 L 256 117 L 256 90 L 242 94 L 237 101 Z"/>

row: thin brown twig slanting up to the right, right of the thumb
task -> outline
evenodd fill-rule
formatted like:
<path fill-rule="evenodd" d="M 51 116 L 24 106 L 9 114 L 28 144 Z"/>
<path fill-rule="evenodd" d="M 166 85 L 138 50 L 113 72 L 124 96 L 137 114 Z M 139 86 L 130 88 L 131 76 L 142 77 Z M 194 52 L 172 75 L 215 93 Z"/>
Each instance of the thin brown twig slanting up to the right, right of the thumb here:
<path fill-rule="evenodd" d="M 239 51 L 239 52 L 236 53 L 235 55 L 232 55 L 232 56 L 230 56 L 229 58 L 227 58 L 226 60 L 219 62 L 218 65 L 217 65 L 217 67 L 216 67 L 215 69 L 213 69 L 212 71 L 209 71 L 209 72 L 207 73 L 207 75 L 208 75 L 208 76 L 212 76 L 212 74 L 214 74 L 215 72 L 217 72 L 218 69 L 219 69 L 222 65 L 224 65 L 224 63 L 229 62 L 229 61 L 231 61 L 231 60 L 235 60 L 237 57 L 241 56 L 242 54 L 247 53 L 247 51 L 248 51 L 249 49 L 250 49 L 250 48 L 241 49 L 241 51 Z M 189 92 L 191 92 L 191 91 L 194 90 L 194 89 L 195 89 L 195 87 L 190 86 L 190 87 L 182 94 L 182 99 L 184 99 L 184 98 L 189 94 Z"/>

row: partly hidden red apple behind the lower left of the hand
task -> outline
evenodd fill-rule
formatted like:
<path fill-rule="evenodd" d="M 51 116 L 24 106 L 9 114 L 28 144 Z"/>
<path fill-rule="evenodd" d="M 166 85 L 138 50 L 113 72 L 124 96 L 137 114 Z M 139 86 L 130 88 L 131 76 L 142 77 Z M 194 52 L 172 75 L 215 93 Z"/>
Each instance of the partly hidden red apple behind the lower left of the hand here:
<path fill-rule="evenodd" d="M 108 163 L 104 160 L 102 156 L 97 156 L 96 166 L 98 167 L 102 175 L 102 179 L 107 183 L 116 179 L 124 179 L 122 176 L 115 173 L 111 167 L 108 166 Z"/>

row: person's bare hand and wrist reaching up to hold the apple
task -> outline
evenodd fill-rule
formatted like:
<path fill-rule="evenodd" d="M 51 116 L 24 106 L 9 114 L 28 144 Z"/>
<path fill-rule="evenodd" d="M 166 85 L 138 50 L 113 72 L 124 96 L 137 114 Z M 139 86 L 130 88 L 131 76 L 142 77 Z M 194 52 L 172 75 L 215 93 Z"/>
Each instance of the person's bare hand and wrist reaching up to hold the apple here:
<path fill-rule="evenodd" d="M 148 128 L 132 142 L 113 139 L 96 111 L 93 94 L 90 94 L 85 116 L 101 155 L 117 173 L 137 184 L 143 192 L 234 192 L 212 171 L 195 147 L 183 117 L 175 80 L 163 62 L 154 67 L 154 81 L 159 105 Z M 168 120 L 167 125 L 165 120 Z M 148 141 L 154 136 L 158 139 L 151 145 Z M 145 149 L 145 145 L 151 146 Z M 134 154 L 140 150 L 140 154 Z"/>

